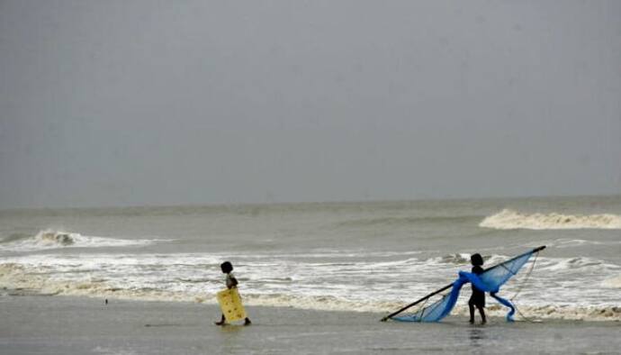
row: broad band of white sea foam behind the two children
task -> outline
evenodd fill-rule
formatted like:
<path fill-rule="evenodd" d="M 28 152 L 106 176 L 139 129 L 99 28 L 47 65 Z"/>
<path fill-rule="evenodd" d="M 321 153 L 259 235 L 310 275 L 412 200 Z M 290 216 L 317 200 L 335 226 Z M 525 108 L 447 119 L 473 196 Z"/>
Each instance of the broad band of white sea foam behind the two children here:
<path fill-rule="evenodd" d="M 355 252 L 339 261 L 238 254 L 240 290 L 247 305 L 293 306 L 318 310 L 389 312 L 451 282 L 469 269 L 468 254 L 443 258 L 364 260 Z M 24 255 L 0 263 L 0 288 L 9 294 L 93 296 L 139 300 L 215 303 L 223 287 L 220 254 Z M 492 255 L 486 264 L 508 259 Z M 523 314 L 536 318 L 621 320 L 618 278 L 621 267 L 599 259 L 537 259 L 502 293 L 518 297 Z M 590 283 L 585 284 L 584 280 Z M 545 295 L 542 296 L 543 290 Z M 464 295 L 467 293 L 464 293 Z M 467 296 L 467 295 L 465 295 Z M 455 313 L 466 314 L 464 300 Z M 493 315 L 504 315 L 494 308 Z"/>

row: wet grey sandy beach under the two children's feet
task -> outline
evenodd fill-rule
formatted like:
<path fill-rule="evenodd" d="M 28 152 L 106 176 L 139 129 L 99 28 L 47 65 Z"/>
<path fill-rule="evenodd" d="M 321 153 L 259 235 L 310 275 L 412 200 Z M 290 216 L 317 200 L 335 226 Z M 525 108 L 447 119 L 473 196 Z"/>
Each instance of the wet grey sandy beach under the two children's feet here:
<path fill-rule="evenodd" d="M 249 307 L 251 326 L 213 325 L 216 305 L 71 296 L 0 298 L 2 354 L 618 353 L 617 322 L 381 323 L 383 314 Z"/>

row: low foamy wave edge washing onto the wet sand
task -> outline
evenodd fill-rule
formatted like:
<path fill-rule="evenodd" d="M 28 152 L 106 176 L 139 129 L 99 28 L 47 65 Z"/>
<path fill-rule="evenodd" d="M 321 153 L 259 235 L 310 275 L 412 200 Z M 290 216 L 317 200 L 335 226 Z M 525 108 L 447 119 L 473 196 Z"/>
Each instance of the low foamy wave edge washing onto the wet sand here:
<path fill-rule="evenodd" d="M 16 269 L 19 269 L 17 267 Z M 28 287 L 31 286 L 31 287 Z M 41 285 L 26 284 L 23 287 L 6 289 L 8 296 L 87 296 L 109 299 L 157 301 L 157 302 L 191 302 L 216 305 L 215 293 L 193 294 L 178 291 L 166 291 L 153 287 L 122 288 L 107 285 L 104 280 L 90 280 L 66 283 L 48 280 Z M 40 288 L 37 288 L 40 287 Z M 348 299 L 340 296 L 300 296 L 286 294 L 256 294 L 241 287 L 244 304 L 252 306 L 293 307 L 317 311 L 365 312 L 388 314 L 401 308 L 405 303 L 387 300 Z M 465 301 L 464 301 L 465 302 Z M 468 307 L 460 302 L 451 314 L 468 315 Z M 621 322 L 621 307 L 616 305 L 518 305 L 516 320 L 572 320 L 572 321 L 613 321 Z M 504 318 L 507 308 L 492 304 L 486 307 L 491 317 Z"/>

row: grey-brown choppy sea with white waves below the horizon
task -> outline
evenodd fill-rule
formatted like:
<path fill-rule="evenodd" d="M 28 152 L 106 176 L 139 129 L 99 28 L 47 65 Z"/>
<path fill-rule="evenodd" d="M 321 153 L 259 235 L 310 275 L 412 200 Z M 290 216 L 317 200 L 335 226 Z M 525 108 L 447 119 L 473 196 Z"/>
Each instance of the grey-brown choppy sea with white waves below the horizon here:
<path fill-rule="evenodd" d="M 389 314 L 543 245 L 518 319 L 621 321 L 621 196 L 3 210 L 0 296 L 215 305 L 228 260 L 249 307 Z"/>

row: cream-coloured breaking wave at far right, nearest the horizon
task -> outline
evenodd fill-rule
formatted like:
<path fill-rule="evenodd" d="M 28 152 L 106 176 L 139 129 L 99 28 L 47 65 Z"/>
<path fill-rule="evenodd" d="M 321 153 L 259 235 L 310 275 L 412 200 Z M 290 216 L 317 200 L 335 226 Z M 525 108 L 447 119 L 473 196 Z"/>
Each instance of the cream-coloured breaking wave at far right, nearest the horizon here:
<path fill-rule="evenodd" d="M 617 214 L 522 214 L 504 209 L 485 217 L 480 227 L 510 230 L 554 229 L 621 229 L 621 215 Z"/>

